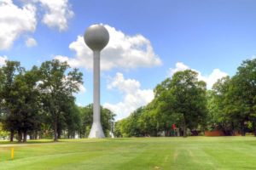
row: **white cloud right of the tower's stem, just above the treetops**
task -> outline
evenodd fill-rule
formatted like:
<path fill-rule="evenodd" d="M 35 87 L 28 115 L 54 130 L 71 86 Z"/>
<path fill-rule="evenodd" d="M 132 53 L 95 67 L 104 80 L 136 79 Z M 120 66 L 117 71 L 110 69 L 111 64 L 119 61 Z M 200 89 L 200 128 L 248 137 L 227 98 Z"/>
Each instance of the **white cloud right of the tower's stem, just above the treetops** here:
<path fill-rule="evenodd" d="M 132 111 L 147 105 L 154 99 L 152 89 L 141 89 L 140 82 L 134 79 L 125 79 L 122 73 L 117 73 L 108 83 L 108 89 L 113 88 L 118 89 L 124 95 L 123 100 L 117 104 L 105 103 L 103 107 L 117 114 L 117 120 L 129 116 Z"/>

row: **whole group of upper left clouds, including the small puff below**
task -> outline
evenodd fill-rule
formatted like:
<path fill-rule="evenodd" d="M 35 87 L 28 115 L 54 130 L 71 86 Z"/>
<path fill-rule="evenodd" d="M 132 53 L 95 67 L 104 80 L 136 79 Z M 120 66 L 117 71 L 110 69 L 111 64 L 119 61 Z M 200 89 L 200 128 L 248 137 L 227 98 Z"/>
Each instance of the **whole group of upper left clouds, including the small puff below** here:
<path fill-rule="evenodd" d="M 65 31 L 68 20 L 73 18 L 73 10 L 68 0 L 20 0 L 22 5 L 16 5 L 13 0 L 0 0 L 0 50 L 12 47 L 20 35 L 36 30 L 37 8 L 43 12 L 42 22 L 59 31 Z M 39 15 L 38 15 L 39 16 Z M 27 39 L 26 46 L 36 45 L 34 39 Z"/>

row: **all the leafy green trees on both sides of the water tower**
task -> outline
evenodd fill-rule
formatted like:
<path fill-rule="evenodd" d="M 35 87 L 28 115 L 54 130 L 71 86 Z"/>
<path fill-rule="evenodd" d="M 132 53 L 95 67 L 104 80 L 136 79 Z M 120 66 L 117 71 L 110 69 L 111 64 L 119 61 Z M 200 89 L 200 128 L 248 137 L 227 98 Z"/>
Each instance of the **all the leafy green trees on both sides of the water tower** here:
<path fill-rule="evenodd" d="M 26 71 L 17 61 L 0 67 L 0 135 L 26 142 L 31 139 L 85 138 L 92 124 L 92 104 L 78 107 L 82 73 L 66 62 L 45 61 Z M 237 131 L 256 135 L 256 59 L 248 59 L 233 77 L 223 77 L 212 89 L 198 73 L 178 71 L 154 88 L 154 99 L 114 123 L 114 114 L 101 107 L 106 136 L 187 136 L 199 131 Z M 115 125 L 113 127 L 113 125 Z"/>

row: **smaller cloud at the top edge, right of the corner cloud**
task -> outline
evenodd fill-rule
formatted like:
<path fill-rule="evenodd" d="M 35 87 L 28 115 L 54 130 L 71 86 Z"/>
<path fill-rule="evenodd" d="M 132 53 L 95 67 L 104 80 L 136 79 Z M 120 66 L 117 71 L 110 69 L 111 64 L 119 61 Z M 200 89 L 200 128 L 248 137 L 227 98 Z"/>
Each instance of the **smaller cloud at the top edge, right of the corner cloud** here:
<path fill-rule="evenodd" d="M 36 0 L 46 10 L 42 22 L 51 28 L 58 28 L 59 31 L 67 30 L 68 20 L 73 18 L 73 11 L 68 0 Z"/>

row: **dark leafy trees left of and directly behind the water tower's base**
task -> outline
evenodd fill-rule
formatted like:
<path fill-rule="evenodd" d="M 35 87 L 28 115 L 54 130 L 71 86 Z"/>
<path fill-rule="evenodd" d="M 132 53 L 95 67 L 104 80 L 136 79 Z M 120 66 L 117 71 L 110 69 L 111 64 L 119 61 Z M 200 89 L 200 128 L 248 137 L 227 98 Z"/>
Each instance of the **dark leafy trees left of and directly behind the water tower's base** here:
<path fill-rule="evenodd" d="M 0 135 L 10 141 L 64 136 L 84 138 L 92 124 L 92 105 L 79 107 L 74 94 L 79 92 L 83 74 L 57 59 L 32 66 L 26 71 L 18 61 L 6 61 L 0 68 Z M 106 136 L 114 114 L 102 108 Z M 0 136 L 1 137 L 1 136 Z"/>

